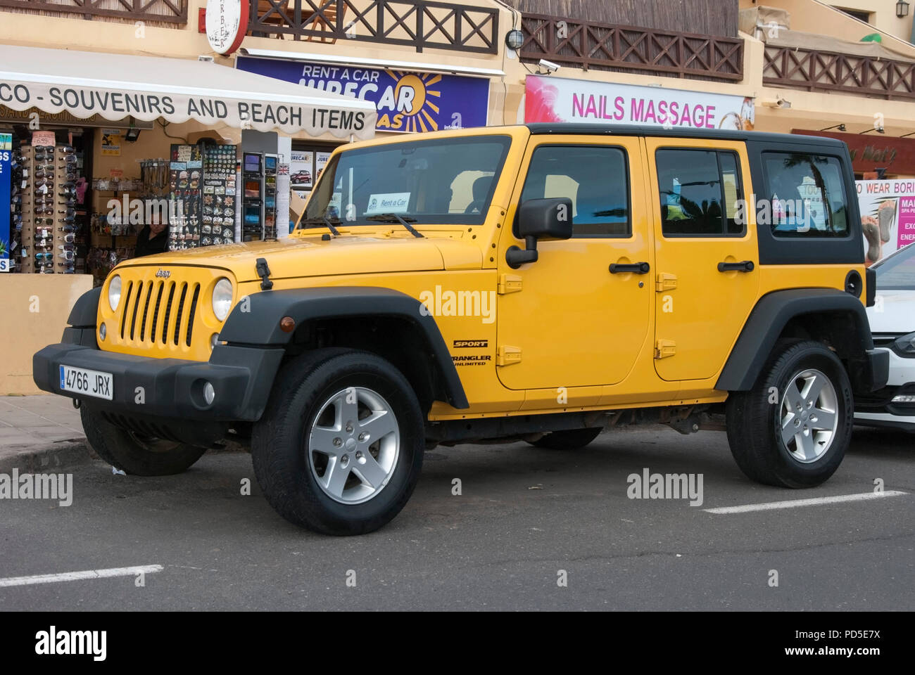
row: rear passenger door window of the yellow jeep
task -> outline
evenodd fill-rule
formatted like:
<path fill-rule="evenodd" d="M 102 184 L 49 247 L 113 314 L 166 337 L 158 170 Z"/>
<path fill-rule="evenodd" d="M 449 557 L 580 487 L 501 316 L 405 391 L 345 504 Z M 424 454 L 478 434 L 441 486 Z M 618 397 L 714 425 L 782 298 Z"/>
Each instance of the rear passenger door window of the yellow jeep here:
<path fill-rule="evenodd" d="M 664 149 L 655 155 L 664 236 L 742 235 L 743 198 L 737 155 L 717 150 Z"/>

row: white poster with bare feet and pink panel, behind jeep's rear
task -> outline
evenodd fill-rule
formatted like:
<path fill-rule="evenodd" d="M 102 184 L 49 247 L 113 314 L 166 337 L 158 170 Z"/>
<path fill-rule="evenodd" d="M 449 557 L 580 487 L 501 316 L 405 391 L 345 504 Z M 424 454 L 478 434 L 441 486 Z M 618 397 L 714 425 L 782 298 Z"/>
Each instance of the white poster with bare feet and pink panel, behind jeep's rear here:
<path fill-rule="evenodd" d="M 857 180 L 866 264 L 915 241 L 915 180 Z"/>

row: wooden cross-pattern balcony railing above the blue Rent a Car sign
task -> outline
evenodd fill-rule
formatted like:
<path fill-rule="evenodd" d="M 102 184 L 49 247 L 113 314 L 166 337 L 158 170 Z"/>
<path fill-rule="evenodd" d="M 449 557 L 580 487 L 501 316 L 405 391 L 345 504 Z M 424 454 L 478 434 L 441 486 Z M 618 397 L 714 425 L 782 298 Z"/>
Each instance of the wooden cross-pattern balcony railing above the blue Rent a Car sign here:
<path fill-rule="evenodd" d="M 2 0 L 0 0 L 2 1 Z M 248 35 L 496 54 L 499 10 L 425 0 L 251 0 Z"/>

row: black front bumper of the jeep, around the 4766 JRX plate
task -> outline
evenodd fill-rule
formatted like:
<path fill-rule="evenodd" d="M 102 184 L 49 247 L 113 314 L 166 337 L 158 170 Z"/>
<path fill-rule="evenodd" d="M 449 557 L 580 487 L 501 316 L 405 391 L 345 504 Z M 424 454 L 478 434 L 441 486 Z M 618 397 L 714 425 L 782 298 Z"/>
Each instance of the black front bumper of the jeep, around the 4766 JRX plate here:
<path fill-rule="evenodd" d="M 283 349 L 217 345 L 209 362 L 152 359 L 85 344 L 48 345 L 32 357 L 32 377 L 43 391 L 81 398 L 109 413 L 166 421 L 254 422 L 264 414 Z M 60 366 L 113 375 L 113 400 L 60 390 Z M 205 382 L 216 396 L 203 398 Z"/>

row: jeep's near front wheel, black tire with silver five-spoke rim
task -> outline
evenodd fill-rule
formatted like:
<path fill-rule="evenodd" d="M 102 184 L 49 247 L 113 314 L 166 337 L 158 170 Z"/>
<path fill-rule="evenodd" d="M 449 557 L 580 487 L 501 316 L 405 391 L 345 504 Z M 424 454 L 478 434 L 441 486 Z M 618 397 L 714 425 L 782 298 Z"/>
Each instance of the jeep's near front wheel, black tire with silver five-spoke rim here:
<path fill-rule="evenodd" d="M 254 476 L 286 520 L 322 534 L 378 530 L 410 498 L 423 465 L 413 388 L 374 354 L 318 349 L 285 365 L 254 425 Z"/>

